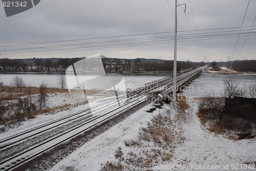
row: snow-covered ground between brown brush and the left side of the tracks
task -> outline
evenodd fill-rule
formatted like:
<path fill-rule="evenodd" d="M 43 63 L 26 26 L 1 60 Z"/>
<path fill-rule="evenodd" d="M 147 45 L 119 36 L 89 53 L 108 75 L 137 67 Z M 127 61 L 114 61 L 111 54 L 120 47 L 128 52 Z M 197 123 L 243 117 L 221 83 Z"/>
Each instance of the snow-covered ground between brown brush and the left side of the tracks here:
<path fill-rule="evenodd" d="M 54 120 L 60 119 L 62 117 L 69 116 L 73 113 L 90 108 L 86 100 L 90 102 L 90 105 L 96 104 L 99 100 L 106 100 L 111 97 L 109 96 L 89 96 L 87 98 L 84 96 L 83 91 L 76 92 L 73 94 L 69 93 L 49 93 L 49 99 L 47 102 L 48 108 L 57 108 L 54 111 L 48 112 L 42 115 L 36 115 L 35 118 L 26 118 L 24 121 L 17 124 L 12 124 L 11 127 L 6 127 L 6 131 L 2 132 L 1 139 L 10 137 L 24 131 L 33 129 L 39 125 L 52 122 Z M 59 108 L 59 106 L 63 106 Z M 59 108 L 59 109 L 58 109 Z M 3 126 L 3 125 L 1 125 Z M 1 127 L 0 127 L 1 128 Z"/>

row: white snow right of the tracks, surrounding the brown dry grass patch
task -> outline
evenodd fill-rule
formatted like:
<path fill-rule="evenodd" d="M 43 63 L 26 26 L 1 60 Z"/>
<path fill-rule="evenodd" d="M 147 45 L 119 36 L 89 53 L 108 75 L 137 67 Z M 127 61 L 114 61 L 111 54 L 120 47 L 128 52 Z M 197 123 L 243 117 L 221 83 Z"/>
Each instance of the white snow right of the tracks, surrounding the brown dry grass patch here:
<path fill-rule="evenodd" d="M 173 157 L 170 160 L 159 160 L 154 164 L 151 163 L 147 169 L 234 170 L 233 168 L 238 168 L 237 170 L 248 170 L 245 169 L 248 165 L 243 163 L 256 161 L 255 138 L 233 141 L 222 135 L 210 133 L 201 125 L 196 115 L 198 108 L 195 99 L 188 99 L 188 104 L 190 108 L 186 110 L 186 122 L 179 127 L 180 132 L 186 138 L 184 143 L 175 145 L 176 148 L 174 148 Z M 157 109 L 153 113 L 145 112 L 149 108 L 151 106 L 145 106 L 129 118 L 87 142 L 66 159 L 57 163 L 51 170 L 99 170 L 102 164 L 108 161 L 117 162 L 115 152 L 118 147 L 122 148 L 124 158 L 127 157 L 128 152 L 137 155 L 141 154 L 141 157 L 143 157 L 142 149 L 137 147 L 131 149 L 131 147 L 124 145 L 124 141 L 136 139 L 141 128 L 145 127 L 147 122 L 151 122 L 150 120 L 153 116 L 158 113 L 166 113 L 168 111 L 169 117 L 177 115 L 177 111 L 167 104 L 164 104 L 163 109 Z M 180 124 L 182 122 L 176 123 Z M 147 142 L 146 144 L 151 145 L 143 147 L 147 151 L 154 146 L 152 142 Z M 167 152 L 167 149 L 165 150 Z M 134 168 L 134 166 L 131 165 L 130 168 Z M 139 168 L 135 170 L 145 169 Z M 126 166 L 125 170 L 130 169 L 127 169 Z"/>

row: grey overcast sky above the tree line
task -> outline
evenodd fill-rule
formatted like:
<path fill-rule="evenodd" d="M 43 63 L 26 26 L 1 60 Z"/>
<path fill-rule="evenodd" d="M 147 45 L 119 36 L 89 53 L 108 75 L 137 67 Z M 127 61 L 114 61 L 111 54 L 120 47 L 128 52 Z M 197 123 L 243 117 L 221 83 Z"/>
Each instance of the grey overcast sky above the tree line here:
<path fill-rule="evenodd" d="M 168 2 L 174 11 L 175 1 Z M 242 26 L 248 0 L 179 0 L 178 3 L 186 3 L 187 6 L 186 15 L 183 11 L 185 6 L 178 7 L 177 60 L 203 61 L 204 56 L 209 61 L 226 61 L 228 56 L 232 60 L 256 59 L 256 27 L 244 27 L 239 39 L 240 28 L 233 28 Z M 166 37 L 174 36 L 174 13 L 170 7 L 166 0 L 41 0 L 32 9 L 10 17 L 6 17 L 4 8 L 0 7 L 0 57 L 87 57 L 102 54 L 113 58 L 172 60 L 173 38 Z M 256 26 L 256 21 L 253 24 L 255 9 L 256 1 L 251 0 L 243 26 Z M 198 31 L 189 32 L 190 29 Z M 202 33 L 207 33 L 208 37 Z M 220 36 L 224 33 L 232 35 Z M 202 37 L 197 38 L 198 35 Z M 138 39 L 159 36 L 165 37 Z M 114 41 L 96 43 L 110 40 Z M 48 43 L 36 44 L 38 42 Z M 34 45 L 9 46 L 20 44 Z M 51 48 L 60 45 L 66 46 Z"/>

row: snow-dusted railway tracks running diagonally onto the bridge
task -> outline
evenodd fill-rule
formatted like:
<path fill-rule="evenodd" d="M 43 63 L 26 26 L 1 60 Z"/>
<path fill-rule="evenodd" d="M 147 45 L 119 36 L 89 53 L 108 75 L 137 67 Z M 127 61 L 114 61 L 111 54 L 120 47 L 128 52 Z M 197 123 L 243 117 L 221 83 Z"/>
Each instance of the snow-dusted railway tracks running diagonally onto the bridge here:
<path fill-rule="evenodd" d="M 177 82 L 183 80 L 185 77 L 195 73 L 194 71 L 177 77 Z M 13 137 L 6 138 L 0 141 L 0 154 L 6 154 L 1 156 L 0 170 L 11 170 L 19 165 L 26 163 L 27 161 L 41 155 L 42 153 L 49 151 L 57 145 L 71 140 L 75 136 L 90 130 L 92 127 L 117 116 L 119 113 L 131 109 L 134 105 L 143 102 L 144 100 L 157 95 L 168 87 L 171 87 L 173 83 L 172 79 L 163 80 L 154 85 L 142 87 L 129 94 L 129 96 L 122 97 L 119 101 L 126 101 L 123 105 L 118 106 L 103 112 L 99 115 L 92 116 L 93 112 L 105 111 L 109 106 L 115 106 L 112 104 L 113 99 L 107 100 L 107 102 L 100 103 L 93 106 L 91 109 L 86 109 L 67 117 L 49 122 L 44 125 L 40 125 L 33 130 L 24 132 Z M 69 125 L 69 126 L 67 126 Z M 68 127 L 63 130 L 63 127 Z M 52 134 L 54 133 L 54 134 Z M 46 136 L 51 135 L 51 136 Z M 31 143 L 31 140 L 36 140 Z M 28 145 L 26 145 L 28 144 Z M 22 148 L 20 148 L 22 147 Z M 17 151 L 17 149 L 20 149 Z M 9 155 L 8 155 L 9 154 Z"/>

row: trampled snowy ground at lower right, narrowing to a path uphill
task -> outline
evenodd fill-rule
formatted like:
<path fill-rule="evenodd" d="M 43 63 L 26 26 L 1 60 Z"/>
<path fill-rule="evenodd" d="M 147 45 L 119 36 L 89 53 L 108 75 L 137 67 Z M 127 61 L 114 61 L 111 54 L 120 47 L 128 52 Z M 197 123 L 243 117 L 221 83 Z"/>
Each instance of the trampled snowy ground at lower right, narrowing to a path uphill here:
<path fill-rule="evenodd" d="M 186 111 L 186 140 L 176 149 L 172 164 L 187 166 L 180 170 L 192 170 L 193 166 L 199 168 L 200 165 L 202 169 L 198 170 L 251 170 L 246 169 L 243 163 L 256 161 L 255 138 L 233 141 L 222 135 L 210 133 L 201 125 L 196 115 L 197 102 L 189 99 L 188 103 L 191 107 Z"/>

